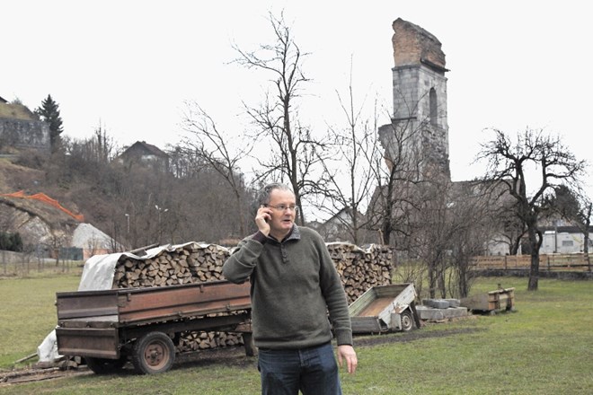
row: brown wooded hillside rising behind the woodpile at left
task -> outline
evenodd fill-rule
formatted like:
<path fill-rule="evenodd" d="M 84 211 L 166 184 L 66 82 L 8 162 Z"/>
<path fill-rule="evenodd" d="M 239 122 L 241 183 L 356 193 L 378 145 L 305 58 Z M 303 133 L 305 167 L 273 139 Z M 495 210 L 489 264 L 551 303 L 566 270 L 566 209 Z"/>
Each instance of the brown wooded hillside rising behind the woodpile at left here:
<path fill-rule="evenodd" d="M 45 194 L 129 250 L 155 243 L 237 239 L 254 227 L 248 221 L 250 193 L 243 191 L 243 206 L 237 207 L 235 191 L 224 177 L 197 166 L 193 157 L 176 163 L 174 171 L 181 175 L 175 176 L 160 164 L 106 161 L 101 154 L 95 141 L 88 141 L 71 143 L 52 155 L 4 155 L 0 194 Z M 53 240 L 70 246 L 68 238 L 78 224 L 54 206 L 5 196 L 0 215 L 4 232 L 19 232 L 25 244 L 33 245 Z"/>

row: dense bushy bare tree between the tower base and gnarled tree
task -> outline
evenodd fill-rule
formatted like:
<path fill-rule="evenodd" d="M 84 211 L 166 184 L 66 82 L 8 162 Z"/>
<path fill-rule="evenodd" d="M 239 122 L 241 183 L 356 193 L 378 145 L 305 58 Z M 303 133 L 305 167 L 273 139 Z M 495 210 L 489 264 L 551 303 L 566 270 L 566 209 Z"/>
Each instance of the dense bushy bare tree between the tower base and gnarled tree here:
<path fill-rule="evenodd" d="M 482 185 L 452 182 L 441 174 L 413 185 L 417 200 L 408 211 L 405 246 L 408 281 L 428 281 L 429 297 L 465 297 L 474 280 L 473 257 L 492 234 L 491 198 Z"/>

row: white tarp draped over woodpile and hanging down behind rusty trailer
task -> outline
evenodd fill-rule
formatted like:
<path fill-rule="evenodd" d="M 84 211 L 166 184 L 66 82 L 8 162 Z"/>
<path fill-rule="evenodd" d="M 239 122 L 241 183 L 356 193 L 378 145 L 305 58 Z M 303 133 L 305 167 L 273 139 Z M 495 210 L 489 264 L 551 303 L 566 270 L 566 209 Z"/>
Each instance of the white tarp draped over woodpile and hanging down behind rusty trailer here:
<path fill-rule="evenodd" d="M 190 241 L 184 244 L 167 244 L 155 247 L 146 250 L 146 255 L 141 257 L 130 252 L 95 255 L 84 262 L 83 275 L 80 278 L 78 291 L 100 291 L 103 289 L 111 289 L 111 286 L 113 285 L 113 276 L 115 275 L 115 267 L 122 255 L 132 259 L 151 259 L 160 255 L 164 251 L 172 252 L 194 243 L 194 241 Z M 206 248 L 208 247 L 208 244 L 199 244 L 199 246 Z M 54 362 L 62 357 L 62 355 L 58 354 L 56 330 L 49 332 L 49 335 L 43 339 L 43 342 L 37 347 L 37 355 L 40 358 L 40 362 Z"/>

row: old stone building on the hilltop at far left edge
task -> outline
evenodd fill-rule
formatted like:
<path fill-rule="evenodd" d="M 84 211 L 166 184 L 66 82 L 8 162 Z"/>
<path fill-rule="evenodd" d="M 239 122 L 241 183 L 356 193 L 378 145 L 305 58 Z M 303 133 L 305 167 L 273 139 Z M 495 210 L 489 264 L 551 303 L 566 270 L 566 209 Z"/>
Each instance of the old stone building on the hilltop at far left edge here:
<path fill-rule="evenodd" d="M 0 97 L 0 150 L 9 147 L 49 152 L 49 123 L 26 106 Z"/>

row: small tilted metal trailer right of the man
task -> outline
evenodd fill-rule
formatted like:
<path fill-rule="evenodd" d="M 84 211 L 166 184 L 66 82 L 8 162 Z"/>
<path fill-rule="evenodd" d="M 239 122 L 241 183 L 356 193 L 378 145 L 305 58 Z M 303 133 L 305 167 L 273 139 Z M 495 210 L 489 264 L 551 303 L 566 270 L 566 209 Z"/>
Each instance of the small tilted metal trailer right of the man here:
<path fill-rule="evenodd" d="M 382 333 L 420 328 L 413 284 L 373 286 L 350 304 L 352 333 Z"/>

